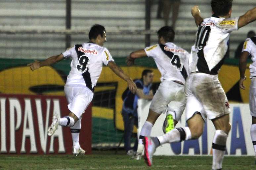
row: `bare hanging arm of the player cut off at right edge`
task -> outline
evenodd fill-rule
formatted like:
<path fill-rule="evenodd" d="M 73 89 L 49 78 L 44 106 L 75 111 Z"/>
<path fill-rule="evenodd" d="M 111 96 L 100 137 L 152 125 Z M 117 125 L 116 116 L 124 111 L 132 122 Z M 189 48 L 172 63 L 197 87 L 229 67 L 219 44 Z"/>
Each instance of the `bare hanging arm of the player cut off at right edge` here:
<path fill-rule="evenodd" d="M 239 87 L 243 90 L 245 89 L 245 86 L 243 85 L 243 81 L 246 79 L 246 77 L 244 76 L 244 73 L 246 70 L 246 61 L 247 61 L 248 55 L 249 55 L 249 52 L 247 51 L 242 52 L 239 60 L 239 72 L 240 72 Z"/>

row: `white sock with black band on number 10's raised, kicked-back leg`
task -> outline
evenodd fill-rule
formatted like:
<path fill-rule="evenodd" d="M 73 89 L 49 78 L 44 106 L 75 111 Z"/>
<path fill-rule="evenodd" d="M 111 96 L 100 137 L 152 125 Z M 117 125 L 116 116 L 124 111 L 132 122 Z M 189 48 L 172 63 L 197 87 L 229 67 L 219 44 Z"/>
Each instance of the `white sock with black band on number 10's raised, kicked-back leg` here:
<path fill-rule="evenodd" d="M 175 143 L 183 140 L 190 140 L 191 131 L 189 127 L 179 127 L 169 131 L 162 136 L 158 136 L 157 138 L 161 145 L 165 143 Z"/>

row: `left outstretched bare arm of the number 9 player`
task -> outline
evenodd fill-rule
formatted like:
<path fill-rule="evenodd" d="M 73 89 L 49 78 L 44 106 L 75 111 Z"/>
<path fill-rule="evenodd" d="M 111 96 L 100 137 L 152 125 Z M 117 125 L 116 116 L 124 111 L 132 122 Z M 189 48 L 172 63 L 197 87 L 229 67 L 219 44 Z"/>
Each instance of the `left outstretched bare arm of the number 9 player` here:
<path fill-rule="evenodd" d="M 60 54 L 60 55 L 49 57 L 44 61 L 35 60 L 35 62 L 29 63 L 29 64 L 27 64 L 27 66 L 29 66 L 30 69 L 32 71 L 34 71 L 36 69 L 39 69 L 40 67 L 49 66 L 49 65 L 52 65 L 54 63 L 57 63 L 58 61 L 61 61 L 63 58 L 64 58 L 63 54 Z"/>

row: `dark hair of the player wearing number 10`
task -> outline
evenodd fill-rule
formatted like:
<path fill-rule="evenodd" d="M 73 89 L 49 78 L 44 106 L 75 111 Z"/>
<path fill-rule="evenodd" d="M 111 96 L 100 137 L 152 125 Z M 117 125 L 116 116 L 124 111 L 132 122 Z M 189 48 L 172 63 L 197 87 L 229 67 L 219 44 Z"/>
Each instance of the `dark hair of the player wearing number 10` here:
<path fill-rule="evenodd" d="M 225 16 L 232 8 L 233 0 L 211 0 L 213 14 L 217 16 Z"/>

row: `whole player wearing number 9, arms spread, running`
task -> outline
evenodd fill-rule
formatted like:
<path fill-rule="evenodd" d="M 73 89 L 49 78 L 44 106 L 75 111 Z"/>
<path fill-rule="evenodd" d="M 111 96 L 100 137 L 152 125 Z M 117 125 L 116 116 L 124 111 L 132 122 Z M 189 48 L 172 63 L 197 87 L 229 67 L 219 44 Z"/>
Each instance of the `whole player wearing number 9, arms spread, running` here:
<path fill-rule="evenodd" d="M 43 66 L 52 65 L 64 58 L 71 57 L 71 71 L 64 86 L 65 96 L 70 111 L 68 116 L 60 118 L 53 115 L 52 125 L 48 128 L 48 135 L 56 131 L 58 125 L 70 127 L 73 139 L 73 155 L 84 155 L 85 151 L 79 145 L 81 118 L 85 109 L 93 99 L 94 86 L 102 71 L 102 65 L 108 66 L 116 75 L 127 81 L 129 90 L 135 93 L 137 89 L 132 79 L 119 68 L 112 59 L 107 48 L 103 47 L 106 40 L 104 26 L 95 24 L 89 32 L 89 42 L 76 44 L 60 55 L 49 57 L 44 61 L 28 64 L 32 71 Z"/>

